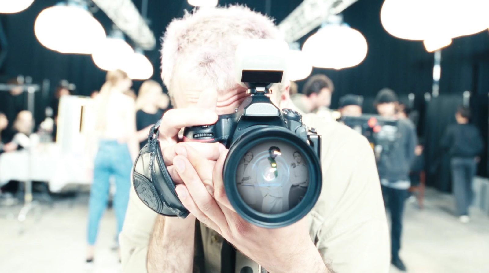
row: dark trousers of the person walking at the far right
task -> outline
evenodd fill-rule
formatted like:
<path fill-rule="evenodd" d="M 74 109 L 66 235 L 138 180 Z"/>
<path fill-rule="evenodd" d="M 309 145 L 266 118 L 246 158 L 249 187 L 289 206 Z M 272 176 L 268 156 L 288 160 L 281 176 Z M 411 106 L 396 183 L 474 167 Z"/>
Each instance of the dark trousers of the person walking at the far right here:
<path fill-rule="evenodd" d="M 474 158 L 452 158 L 452 185 L 458 215 L 468 215 L 468 207 L 474 199 L 472 181 L 477 171 Z"/>

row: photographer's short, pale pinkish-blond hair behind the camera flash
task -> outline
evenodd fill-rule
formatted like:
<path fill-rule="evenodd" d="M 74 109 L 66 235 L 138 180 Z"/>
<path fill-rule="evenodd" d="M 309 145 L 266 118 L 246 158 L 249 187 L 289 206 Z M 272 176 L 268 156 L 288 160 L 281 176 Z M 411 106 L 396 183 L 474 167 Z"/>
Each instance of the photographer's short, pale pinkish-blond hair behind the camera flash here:
<path fill-rule="evenodd" d="M 218 92 L 234 89 L 234 53 L 244 39 L 280 39 L 273 20 L 248 7 L 231 5 L 186 12 L 174 19 L 162 39 L 161 78 L 173 97 L 174 79 Z"/>

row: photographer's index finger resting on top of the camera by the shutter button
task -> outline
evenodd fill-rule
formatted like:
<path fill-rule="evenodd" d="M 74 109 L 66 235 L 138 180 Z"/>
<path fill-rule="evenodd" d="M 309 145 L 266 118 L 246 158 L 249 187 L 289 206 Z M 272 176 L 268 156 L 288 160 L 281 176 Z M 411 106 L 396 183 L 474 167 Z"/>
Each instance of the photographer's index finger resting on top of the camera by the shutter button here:
<path fill-rule="evenodd" d="M 181 128 L 198 125 L 210 125 L 217 121 L 217 114 L 209 109 L 180 108 L 171 109 L 163 114 L 159 126 L 159 138 L 175 139 Z"/>

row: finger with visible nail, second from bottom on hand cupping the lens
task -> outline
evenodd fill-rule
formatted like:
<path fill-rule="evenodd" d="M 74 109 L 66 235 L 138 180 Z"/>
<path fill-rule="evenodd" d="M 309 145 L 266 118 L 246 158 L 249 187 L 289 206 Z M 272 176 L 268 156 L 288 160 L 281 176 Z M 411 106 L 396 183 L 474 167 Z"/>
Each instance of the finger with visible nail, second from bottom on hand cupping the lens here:
<path fill-rule="evenodd" d="M 186 157 L 177 156 L 173 159 L 173 164 L 200 211 L 216 223 L 221 230 L 226 228 L 227 221 L 221 208 L 209 194 L 190 161 Z"/>

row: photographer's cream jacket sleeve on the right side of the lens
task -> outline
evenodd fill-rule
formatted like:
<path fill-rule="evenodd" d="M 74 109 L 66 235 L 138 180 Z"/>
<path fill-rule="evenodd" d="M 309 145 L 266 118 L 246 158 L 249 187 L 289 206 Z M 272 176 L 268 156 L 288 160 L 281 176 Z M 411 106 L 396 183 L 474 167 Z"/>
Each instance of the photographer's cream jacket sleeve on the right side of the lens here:
<path fill-rule="evenodd" d="M 388 273 L 389 231 L 373 150 L 359 135 L 338 146 L 322 161 L 316 212 L 323 224 L 313 240 L 334 272 Z"/>

